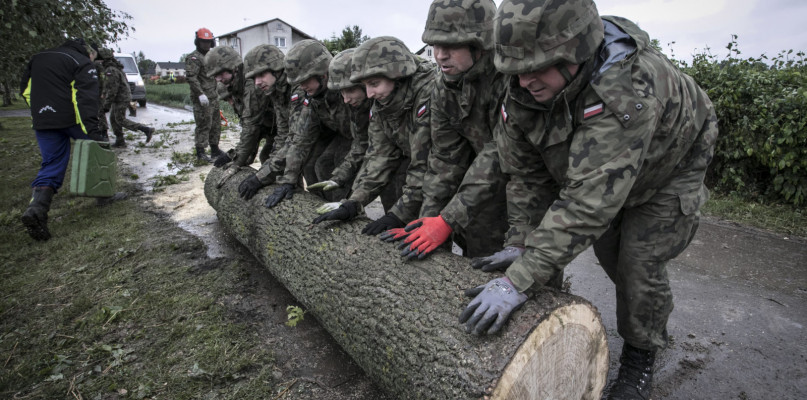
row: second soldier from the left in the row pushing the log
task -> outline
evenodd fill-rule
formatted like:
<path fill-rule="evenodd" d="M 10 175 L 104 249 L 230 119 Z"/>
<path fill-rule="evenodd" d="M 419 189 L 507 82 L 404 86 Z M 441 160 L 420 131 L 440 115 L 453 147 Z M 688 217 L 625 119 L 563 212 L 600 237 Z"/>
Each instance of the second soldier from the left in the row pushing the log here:
<path fill-rule="evenodd" d="M 246 77 L 252 78 L 265 96 L 272 102 L 275 111 L 275 135 L 268 138 L 261 157 L 261 168 L 256 174 L 244 179 L 238 186 L 238 194 L 245 200 L 251 199 L 258 190 L 274 182 L 278 173 L 286 165 L 286 151 L 289 146 L 289 123 L 297 119 L 301 110 L 304 92 L 299 86 L 291 85 L 286 78 L 285 56 L 275 46 L 260 45 L 250 50 L 244 57 Z M 295 99 L 295 101 L 292 101 Z M 264 151 L 262 150 L 261 153 Z"/>

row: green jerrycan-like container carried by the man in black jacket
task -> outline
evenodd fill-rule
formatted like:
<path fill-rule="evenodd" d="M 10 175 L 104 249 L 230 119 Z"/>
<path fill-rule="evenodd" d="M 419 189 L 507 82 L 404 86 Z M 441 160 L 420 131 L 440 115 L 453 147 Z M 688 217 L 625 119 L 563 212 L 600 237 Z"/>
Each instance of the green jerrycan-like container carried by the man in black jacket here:
<path fill-rule="evenodd" d="M 73 146 L 70 193 L 84 197 L 111 197 L 115 194 L 118 163 L 112 150 L 94 140 L 76 140 Z"/>

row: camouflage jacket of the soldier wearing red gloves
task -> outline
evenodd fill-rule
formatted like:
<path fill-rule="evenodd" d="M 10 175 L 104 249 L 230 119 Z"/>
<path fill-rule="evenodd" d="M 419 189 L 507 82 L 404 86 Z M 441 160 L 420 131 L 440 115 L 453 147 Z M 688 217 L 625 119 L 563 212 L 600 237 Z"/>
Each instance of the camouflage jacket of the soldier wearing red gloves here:
<path fill-rule="evenodd" d="M 498 121 L 506 82 L 504 74 L 496 71 L 493 57 L 488 53 L 464 74 L 461 81 L 435 81 L 431 110 L 432 148 L 429 169 L 423 178 L 421 217 L 442 215 L 455 229 L 458 225 L 467 226 L 470 207 L 482 198 L 490 197 L 490 185 L 465 185 L 462 193 L 458 193 L 458 189 L 471 163 L 487 143 L 493 142 L 493 129 Z M 490 156 L 496 155 L 493 147 Z M 480 172 L 490 173 L 486 169 Z"/>

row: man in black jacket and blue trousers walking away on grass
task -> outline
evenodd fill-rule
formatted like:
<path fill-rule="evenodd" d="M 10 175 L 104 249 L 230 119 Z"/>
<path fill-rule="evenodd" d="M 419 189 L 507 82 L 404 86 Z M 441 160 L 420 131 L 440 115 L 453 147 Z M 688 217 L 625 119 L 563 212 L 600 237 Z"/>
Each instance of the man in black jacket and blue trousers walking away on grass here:
<path fill-rule="evenodd" d="M 70 139 L 106 143 L 98 128 L 97 49 L 83 39 L 31 57 L 23 71 L 20 93 L 31 107 L 42 164 L 31 183 L 33 197 L 22 223 L 35 240 L 50 239 L 48 211 L 62 186 L 70 160 Z"/>

